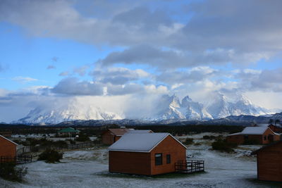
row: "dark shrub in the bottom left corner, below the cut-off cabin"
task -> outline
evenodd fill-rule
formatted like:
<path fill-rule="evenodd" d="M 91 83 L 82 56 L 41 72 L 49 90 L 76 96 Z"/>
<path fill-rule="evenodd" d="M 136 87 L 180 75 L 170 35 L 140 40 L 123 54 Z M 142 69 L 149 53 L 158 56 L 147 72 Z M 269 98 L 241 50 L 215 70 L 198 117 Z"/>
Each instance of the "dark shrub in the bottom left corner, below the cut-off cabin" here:
<path fill-rule="evenodd" d="M 0 177 L 13 182 L 22 182 L 27 168 L 16 167 L 16 163 L 0 163 Z"/>

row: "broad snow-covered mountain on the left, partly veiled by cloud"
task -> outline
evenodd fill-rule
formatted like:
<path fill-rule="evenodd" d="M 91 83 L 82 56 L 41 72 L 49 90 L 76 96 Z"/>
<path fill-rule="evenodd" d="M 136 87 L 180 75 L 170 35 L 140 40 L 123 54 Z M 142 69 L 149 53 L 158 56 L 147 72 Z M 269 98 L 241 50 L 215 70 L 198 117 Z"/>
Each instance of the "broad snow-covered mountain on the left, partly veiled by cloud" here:
<path fill-rule="evenodd" d="M 30 111 L 25 118 L 12 123 L 23 124 L 57 124 L 71 120 L 120 120 L 121 115 L 107 112 L 101 108 L 80 104 L 78 101 L 70 101 L 65 106 L 37 107 Z"/>

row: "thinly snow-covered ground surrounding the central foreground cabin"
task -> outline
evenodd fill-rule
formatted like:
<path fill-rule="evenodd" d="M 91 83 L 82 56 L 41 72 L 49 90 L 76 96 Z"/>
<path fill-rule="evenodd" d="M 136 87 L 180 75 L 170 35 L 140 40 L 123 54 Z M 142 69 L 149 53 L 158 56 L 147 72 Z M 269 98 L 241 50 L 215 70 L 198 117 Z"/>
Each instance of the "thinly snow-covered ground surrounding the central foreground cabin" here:
<path fill-rule="evenodd" d="M 282 184 L 255 180 L 256 159 L 239 154 L 256 147 L 244 146 L 238 153 L 228 154 L 209 150 L 209 144 L 202 140 L 200 145 L 188 146 L 189 156 L 205 161 L 205 173 L 157 177 L 111 174 L 106 149 L 93 148 L 66 151 L 61 163 L 26 164 L 28 173 L 24 183 L 0 179 L 0 187 L 282 187 Z"/>

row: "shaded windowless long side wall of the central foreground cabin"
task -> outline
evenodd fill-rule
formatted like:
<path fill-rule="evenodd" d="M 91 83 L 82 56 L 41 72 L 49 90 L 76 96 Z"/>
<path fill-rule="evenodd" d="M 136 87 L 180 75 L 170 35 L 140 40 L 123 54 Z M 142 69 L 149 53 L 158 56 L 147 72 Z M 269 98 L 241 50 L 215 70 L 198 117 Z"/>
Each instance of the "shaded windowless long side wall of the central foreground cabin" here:
<path fill-rule="evenodd" d="M 109 172 L 151 175 L 150 153 L 109 151 Z"/>

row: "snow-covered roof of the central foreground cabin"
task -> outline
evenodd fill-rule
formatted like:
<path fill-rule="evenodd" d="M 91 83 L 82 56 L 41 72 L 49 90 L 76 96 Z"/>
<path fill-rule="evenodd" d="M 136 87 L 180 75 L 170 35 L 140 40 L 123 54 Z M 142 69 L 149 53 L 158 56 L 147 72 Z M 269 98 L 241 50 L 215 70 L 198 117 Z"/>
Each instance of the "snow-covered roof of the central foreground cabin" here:
<path fill-rule="evenodd" d="M 128 133 L 124 134 L 121 139 L 109 146 L 110 151 L 134 151 L 150 152 L 161 141 L 170 135 L 169 133 Z M 173 139 L 176 139 L 173 137 Z M 177 142 L 178 139 L 176 139 Z M 183 145 L 181 142 L 179 142 Z M 184 145 L 183 145 L 184 146 Z M 185 147 L 185 146 L 184 146 Z M 186 147 L 185 147 L 186 148 Z"/>

